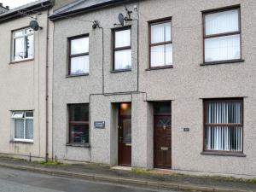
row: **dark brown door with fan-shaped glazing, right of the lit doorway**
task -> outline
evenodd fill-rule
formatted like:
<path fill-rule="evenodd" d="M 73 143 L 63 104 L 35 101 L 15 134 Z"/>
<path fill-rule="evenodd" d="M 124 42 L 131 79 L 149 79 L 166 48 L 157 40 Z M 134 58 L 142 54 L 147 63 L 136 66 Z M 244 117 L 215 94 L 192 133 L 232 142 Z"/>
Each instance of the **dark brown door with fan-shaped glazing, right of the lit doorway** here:
<path fill-rule="evenodd" d="M 172 169 L 171 115 L 154 115 L 154 167 Z"/>

